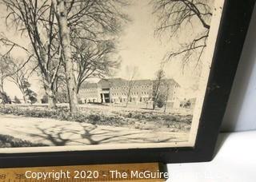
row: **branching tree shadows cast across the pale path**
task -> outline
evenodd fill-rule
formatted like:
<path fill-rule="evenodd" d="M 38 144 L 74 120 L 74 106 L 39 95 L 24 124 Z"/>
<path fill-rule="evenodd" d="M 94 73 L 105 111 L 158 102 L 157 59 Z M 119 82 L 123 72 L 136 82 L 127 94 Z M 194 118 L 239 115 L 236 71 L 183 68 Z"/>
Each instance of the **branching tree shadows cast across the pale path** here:
<path fill-rule="evenodd" d="M 81 129 L 66 129 L 66 125 L 54 125 L 48 129 L 36 129 L 38 134 L 28 133 L 30 137 L 36 137 L 38 140 L 49 141 L 54 146 L 65 146 L 70 144 L 109 144 L 109 143 L 162 143 L 177 139 L 176 137 L 162 137 L 161 140 L 155 137 L 149 137 L 154 133 L 150 131 L 118 131 L 117 129 L 99 129 L 97 125 L 82 125 Z M 54 130 L 55 129 L 55 130 Z"/>

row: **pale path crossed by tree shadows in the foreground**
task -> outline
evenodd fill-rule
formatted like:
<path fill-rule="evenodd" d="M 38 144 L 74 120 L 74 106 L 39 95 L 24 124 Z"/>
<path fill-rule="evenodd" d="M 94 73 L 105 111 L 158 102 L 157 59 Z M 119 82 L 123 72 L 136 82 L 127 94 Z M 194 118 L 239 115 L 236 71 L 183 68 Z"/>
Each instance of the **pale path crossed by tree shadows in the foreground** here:
<path fill-rule="evenodd" d="M 186 141 L 188 133 L 90 125 L 48 118 L 0 114 L 0 134 L 53 146 Z"/>

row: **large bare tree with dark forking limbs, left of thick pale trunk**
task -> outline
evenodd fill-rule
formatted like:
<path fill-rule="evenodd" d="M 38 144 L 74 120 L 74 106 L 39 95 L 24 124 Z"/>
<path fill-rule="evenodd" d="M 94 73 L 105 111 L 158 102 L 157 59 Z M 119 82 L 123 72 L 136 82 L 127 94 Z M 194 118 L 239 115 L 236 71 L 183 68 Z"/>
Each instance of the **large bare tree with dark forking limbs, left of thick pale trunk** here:
<path fill-rule="evenodd" d="M 61 65 L 60 47 L 58 46 L 57 25 L 54 6 L 48 0 L 1 0 L 7 7 L 6 25 L 16 26 L 21 35 L 28 37 L 33 51 L 22 47 L 8 38 L 1 38 L 2 43 L 22 47 L 30 57 L 34 57 L 36 68 L 40 70 L 50 108 L 56 107 L 54 83 Z M 28 60 L 29 61 L 29 60 Z"/>

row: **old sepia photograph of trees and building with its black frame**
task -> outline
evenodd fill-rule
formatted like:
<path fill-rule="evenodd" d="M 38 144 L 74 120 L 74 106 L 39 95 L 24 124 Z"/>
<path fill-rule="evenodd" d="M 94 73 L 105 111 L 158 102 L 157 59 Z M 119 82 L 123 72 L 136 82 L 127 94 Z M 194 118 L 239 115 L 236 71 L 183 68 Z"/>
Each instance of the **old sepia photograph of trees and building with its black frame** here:
<path fill-rule="evenodd" d="M 0 2 L 1 168 L 212 160 L 254 0 Z"/>

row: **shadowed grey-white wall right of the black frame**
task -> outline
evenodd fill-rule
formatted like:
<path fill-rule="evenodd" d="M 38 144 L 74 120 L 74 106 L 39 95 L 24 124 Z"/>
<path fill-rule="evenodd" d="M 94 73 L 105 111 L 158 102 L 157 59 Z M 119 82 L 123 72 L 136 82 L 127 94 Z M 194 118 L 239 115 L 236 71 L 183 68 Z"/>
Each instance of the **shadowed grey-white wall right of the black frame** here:
<path fill-rule="evenodd" d="M 256 130 L 256 6 L 246 35 L 230 99 L 222 122 L 223 132 Z"/>

